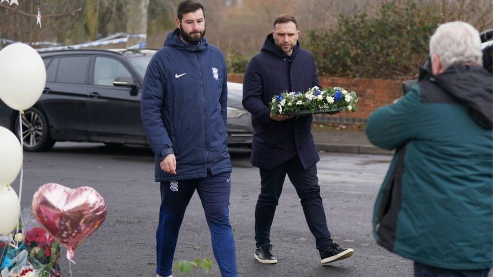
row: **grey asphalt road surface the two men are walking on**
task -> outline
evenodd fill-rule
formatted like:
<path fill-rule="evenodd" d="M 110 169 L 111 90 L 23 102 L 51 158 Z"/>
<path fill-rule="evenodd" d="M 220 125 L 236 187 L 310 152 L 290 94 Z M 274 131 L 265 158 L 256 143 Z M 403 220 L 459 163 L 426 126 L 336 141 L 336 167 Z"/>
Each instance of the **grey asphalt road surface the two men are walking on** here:
<path fill-rule="evenodd" d="M 334 241 L 355 250 L 353 257 L 320 265 L 315 241 L 300 200 L 286 178 L 271 230 L 278 264 L 253 258 L 254 210 L 260 192 L 259 171 L 249 153 L 233 151 L 230 220 L 241 276 L 412 276 L 412 262 L 376 245 L 371 216 L 376 193 L 388 168 L 389 155 L 320 153 L 318 177 Z M 45 183 L 76 188 L 90 186 L 105 198 L 104 224 L 76 248 L 73 276 L 155 276 L 155 230 L 160 205 L 154 182 L 154 157 L 148 148 L 110 148 L 103 144 L 57 143 L 49 152 L 24 154 L 22 207 Z M 13 187 L 18 191 L 18 180 Z M 63 251 L 61 267 L 68 273 Z M 213 258 L 210 233 L 195 194 L 180 231 L 175 261 Z M 214 259 L 213 259 L 214 260 Z M 174 275 L 177 271 L 174 270 Z M 193 276 L 205 275 L 195 270 Z M 216 262 L 210 276 L 218 276 Z"/>

